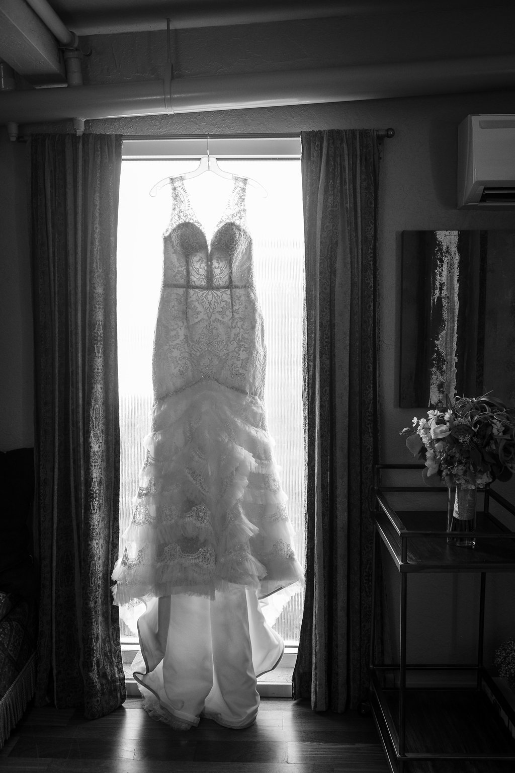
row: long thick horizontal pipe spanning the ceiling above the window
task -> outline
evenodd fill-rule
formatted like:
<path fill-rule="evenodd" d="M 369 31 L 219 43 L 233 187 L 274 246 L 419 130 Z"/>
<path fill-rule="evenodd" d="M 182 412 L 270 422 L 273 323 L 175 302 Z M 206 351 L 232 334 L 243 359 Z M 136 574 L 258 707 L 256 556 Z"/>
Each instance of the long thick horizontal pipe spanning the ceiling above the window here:
<path fill-rule="evenodd" d="M 0 123 L 196 113 L 515 87 L 515 56 L 103 83 L 0 94 Z"/>

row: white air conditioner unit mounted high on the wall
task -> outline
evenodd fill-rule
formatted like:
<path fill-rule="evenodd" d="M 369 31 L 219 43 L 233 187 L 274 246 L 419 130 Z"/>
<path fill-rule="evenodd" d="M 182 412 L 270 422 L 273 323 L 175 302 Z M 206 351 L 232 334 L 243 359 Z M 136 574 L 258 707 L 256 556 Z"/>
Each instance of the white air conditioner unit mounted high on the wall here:
<path fill-rule="evenodd" d="M 515 207 L 515 115 L 467 115 L 458 128 L 458 208 Z"/>

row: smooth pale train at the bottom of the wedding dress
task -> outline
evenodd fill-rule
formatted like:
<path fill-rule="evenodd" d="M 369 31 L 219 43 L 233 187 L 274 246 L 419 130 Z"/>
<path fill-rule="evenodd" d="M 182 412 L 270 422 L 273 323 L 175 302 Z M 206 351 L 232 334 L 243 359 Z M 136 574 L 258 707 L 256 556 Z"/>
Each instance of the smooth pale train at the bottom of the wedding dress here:
<path fill-rule="evenodd" d="M 144 707 L 175 729 L 199 717 L 242 729 L 256 720 L 256 677 L 275 668 L 283 640 L 266 623 L 256 591 L 233 586 L 215 599 L 154 598 L 138 621 L 144 669 L 134 672 Z M 187 635 L 185 635 L 187 633 Z"/>

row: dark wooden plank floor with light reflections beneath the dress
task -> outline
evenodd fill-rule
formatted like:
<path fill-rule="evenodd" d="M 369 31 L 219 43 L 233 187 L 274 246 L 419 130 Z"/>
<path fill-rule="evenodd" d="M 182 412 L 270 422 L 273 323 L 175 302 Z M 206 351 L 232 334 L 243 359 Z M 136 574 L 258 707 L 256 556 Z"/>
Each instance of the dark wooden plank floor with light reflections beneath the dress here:
<path fill-rule="evenodd" d="M 388 773 L 370 716 L 313 713 L 263 698 L 256 724 L 228 730 L 201 719 L 187 732 L 152 720 L 128 698 L 100 720 L 29 708 L 0 751 L 0 771 L 70 773 Z"/>

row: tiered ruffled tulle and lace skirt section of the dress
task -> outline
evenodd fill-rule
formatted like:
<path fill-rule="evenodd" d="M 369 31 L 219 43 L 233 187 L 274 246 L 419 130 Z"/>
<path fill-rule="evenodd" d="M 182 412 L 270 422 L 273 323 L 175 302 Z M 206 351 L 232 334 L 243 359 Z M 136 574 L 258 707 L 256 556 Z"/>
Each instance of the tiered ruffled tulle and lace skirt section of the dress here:
<path fill-rule="evenodd" d="M 202 380 L 154 406 L 116 604 L 303 582 L 260 400 Z"/>

